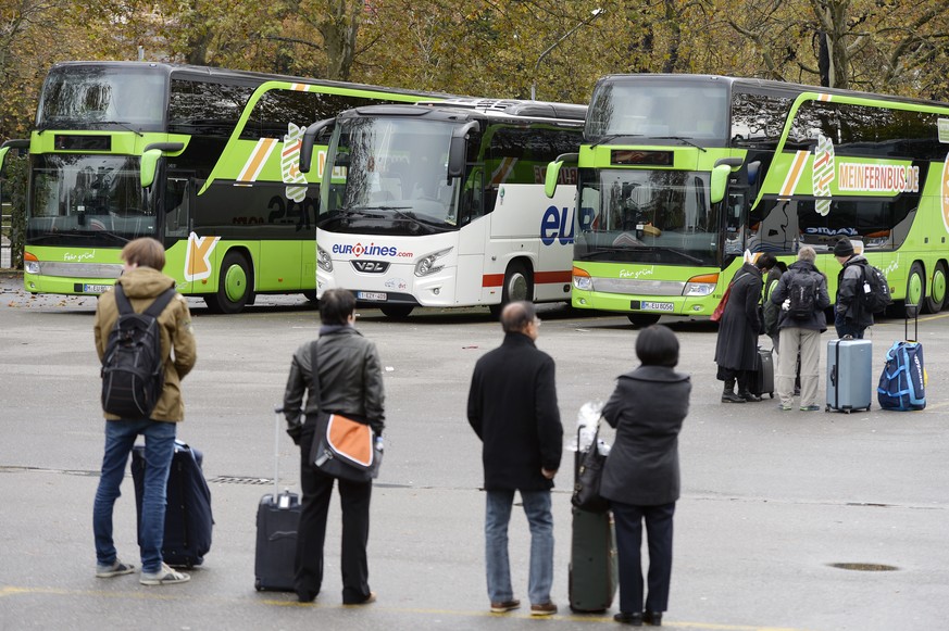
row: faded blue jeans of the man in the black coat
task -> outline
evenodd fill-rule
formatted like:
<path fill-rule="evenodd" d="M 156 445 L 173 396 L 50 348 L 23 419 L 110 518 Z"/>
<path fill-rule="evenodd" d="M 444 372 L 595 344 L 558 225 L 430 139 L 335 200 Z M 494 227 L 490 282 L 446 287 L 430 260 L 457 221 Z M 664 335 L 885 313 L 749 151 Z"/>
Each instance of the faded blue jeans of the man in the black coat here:
<path fill-rule="evenodd" d="M 550 602 L 550 588 L 553 584 L 553 515 L 550 510 L 550 491 L 521 491 L 521 501 L 530 528 L 527 596 L 532 605 L 544 605 Z M 505 603 L 514 598 L 511 564 L 508 558 L 508 523 L 513 504 L 513 490 L 487 492 L 485 565 L 491 603 Z"/>

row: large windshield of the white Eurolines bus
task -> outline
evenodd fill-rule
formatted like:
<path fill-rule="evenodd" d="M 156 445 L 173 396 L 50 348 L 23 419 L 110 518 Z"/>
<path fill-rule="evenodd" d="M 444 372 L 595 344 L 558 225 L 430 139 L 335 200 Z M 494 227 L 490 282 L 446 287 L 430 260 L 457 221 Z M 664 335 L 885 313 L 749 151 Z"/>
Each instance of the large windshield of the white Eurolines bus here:
<path fill-rule="evenodd" d="M 452 129 L 448 122 L 407 117 L 340 121 L 327 164 L 336 167 L 333 186 L 317 225 L 347 231 L 355 229 L 353 220 L 369 218 L 359 222 L 359 231 L 367 224 L 391 235 L 454 229 L 458 187 L 448 181 Z"/>

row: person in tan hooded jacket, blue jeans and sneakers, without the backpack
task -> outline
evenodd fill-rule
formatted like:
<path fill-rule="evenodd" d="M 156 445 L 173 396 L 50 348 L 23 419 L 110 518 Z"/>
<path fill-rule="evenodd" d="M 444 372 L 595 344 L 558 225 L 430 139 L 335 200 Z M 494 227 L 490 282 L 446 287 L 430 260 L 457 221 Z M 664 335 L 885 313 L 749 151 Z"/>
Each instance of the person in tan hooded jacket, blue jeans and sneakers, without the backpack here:
<path fill-rule="evenodd" d="M 162 274 L 165 249 L 149 237 L 134 239 L 121 254 L 122 276 L 115 281 L 132 307 L 141 313 L 167 289 L 175 287 L 173 278 Z M 99 298 L 92 333 L 101 362 L 105 356 L 109 333 L 118 319 L 115 291 Z M 132 573 L 135 567 L 120 560 L 112 539 L 112 512 L 118 499 L 118 487 L 125 477 L 125 465 L 135 445 L 135 439 L 145 437 L 145 480 L 141 499 L 141 523 L 138 546 L 141 553 L 143 585 L 184 583 L 190 577 L 170 568 L 162 559 L 165 529 L 165 496 L 172 456 L 175 453 L 177 424 L 185 419 L 182 399 L 182 379 L 195 367 L 198 358 L 191 314 L 188 303 L 175 294 L 157 318 L 161 333 L 161 353 L 164 364 L 164 383 L 158 403 L 149 418 L 118 418 L 105 414 L 105 454 L 96 502 L 92 509 L 92 530 L 96 535 L 96 576 L 112 578 Z"/>

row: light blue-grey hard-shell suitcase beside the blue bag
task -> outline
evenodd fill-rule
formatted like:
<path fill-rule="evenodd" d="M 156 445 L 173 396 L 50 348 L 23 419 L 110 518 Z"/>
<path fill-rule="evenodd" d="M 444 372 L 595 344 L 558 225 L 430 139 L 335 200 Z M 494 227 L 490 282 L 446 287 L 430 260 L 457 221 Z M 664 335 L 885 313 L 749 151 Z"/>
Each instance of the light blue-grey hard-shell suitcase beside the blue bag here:
<path fill-rule="evenodd" d="M 873 342 L 844 338 L 827 342 L 827 407 L 870 409 L 873 400 Z"/>

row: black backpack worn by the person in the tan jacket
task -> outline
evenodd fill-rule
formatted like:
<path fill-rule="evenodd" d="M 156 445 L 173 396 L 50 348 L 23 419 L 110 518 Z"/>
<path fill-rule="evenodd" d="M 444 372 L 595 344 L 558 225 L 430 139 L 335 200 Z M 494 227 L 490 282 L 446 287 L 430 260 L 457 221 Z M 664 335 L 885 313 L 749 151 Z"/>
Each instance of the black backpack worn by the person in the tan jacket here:
<path fill-rule="evenodd" d="M 158 317 L 175 295 L 168 288 L 142 313 L 135 313 L 115 283 L 118 319 L 102 357 L 102 409 L 120 418 L 150 418 L 165 382 Z"/>

